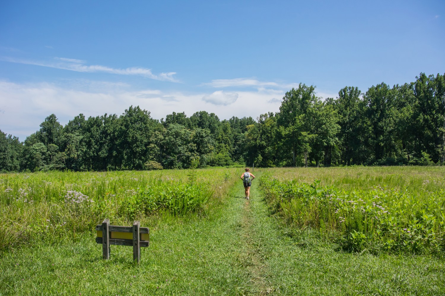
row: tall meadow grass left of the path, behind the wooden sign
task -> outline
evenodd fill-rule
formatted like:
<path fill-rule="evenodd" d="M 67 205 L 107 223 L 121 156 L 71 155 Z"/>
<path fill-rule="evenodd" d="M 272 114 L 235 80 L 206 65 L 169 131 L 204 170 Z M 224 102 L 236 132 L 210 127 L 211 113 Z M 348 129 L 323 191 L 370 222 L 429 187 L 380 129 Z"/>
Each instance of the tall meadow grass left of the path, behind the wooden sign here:
<path fill-rule="evenodd" d="M 0 175 L 0 252 L 20 241 L 58 241 L 168 211 L 202 212 L 219 202 L 232 170 L 48 172 Z"/>

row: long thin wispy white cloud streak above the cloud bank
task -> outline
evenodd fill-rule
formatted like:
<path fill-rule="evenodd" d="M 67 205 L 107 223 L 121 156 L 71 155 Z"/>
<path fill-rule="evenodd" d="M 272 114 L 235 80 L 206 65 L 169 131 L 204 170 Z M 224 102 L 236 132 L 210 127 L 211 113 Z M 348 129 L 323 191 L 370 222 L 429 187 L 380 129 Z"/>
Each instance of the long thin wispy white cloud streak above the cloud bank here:
<path fill-rule="evenodd" d="M 110 73 L 117 75 L 138 75 L 155 80 L 178 82 L 178 80 L 173 77 L 173 75 L 175 75 L 176 72 L 153 74 L 151 72 L 151 69 L 142 67 L 129 67 L 125 69 L 119 69 L 101 65 L 87 65 L 86 61 L 80 59 L 67 59 L 67 58 L 54 58 L 55 61 L 44 61 L 44 62 L 27 60 L 27 59 L 16 59 L 11 57 L 2 57 L 0 59 L 11 63 L 21 63 L 28 65 L 43 66 L 43 67 L 51 67 L 56 69 L 64 69 L 77 72 Z"/>

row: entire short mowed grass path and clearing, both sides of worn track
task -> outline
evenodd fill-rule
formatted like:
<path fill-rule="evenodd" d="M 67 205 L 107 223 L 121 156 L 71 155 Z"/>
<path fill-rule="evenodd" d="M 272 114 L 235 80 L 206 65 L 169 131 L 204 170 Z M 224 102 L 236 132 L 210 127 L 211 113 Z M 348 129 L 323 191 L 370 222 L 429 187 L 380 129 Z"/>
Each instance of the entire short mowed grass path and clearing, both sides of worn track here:
<path fill-rule="evenodd" d="M 139 265 L 131 247 L 111 246 L 102 260 L 93 232 L 5 253 L 0 295 L 445 295 L 441 259 L 343 253 L 287 229 L 265 204 L 261 174 L 250 201 L 236 176 L 205 215 L 141 219 L 150 247 Z"/>

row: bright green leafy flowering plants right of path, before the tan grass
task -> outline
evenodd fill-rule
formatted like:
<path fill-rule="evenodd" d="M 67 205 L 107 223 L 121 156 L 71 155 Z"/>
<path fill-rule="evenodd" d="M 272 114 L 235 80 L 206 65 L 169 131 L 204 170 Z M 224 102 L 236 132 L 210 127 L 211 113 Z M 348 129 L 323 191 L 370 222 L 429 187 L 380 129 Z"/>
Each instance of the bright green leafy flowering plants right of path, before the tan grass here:
<path fill-rule="evenodd" d="M 333 235 L 354 252 L 437 254 L 445 250 L 445 191 L 409 192 L 376 185 L 340 189 L 333 185 L 283 182 L 262 176 L 271 208 L 287 223 Z"/>

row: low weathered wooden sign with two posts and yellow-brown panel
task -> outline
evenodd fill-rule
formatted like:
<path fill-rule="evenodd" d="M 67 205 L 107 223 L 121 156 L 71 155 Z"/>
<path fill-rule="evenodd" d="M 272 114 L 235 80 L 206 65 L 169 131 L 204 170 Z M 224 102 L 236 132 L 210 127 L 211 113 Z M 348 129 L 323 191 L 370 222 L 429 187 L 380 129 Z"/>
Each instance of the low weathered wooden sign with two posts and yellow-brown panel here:
<path fill-rule="evenodd" d="M 133 226 L 113 226 L 109 219 L 96 226 L 96 242 L 102 244 L 102 255 L 105 260 L 110 257 L 110 245 L 133 246 L 133 260 L 141 260 L 141 247 L 150 245 L 150 229 L 140 227 L 139 221 Z"/>

